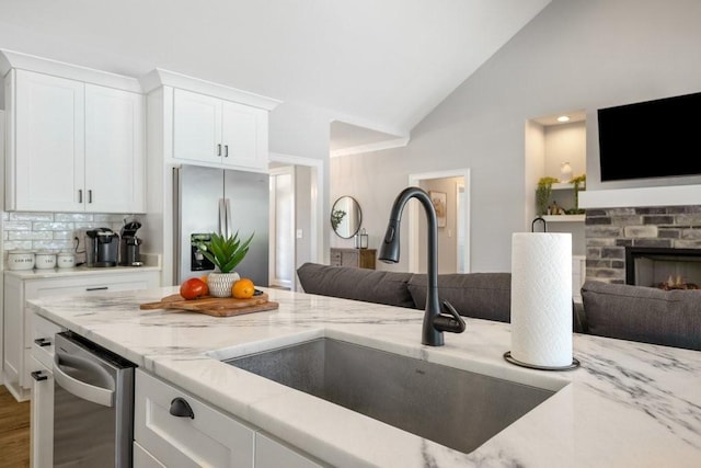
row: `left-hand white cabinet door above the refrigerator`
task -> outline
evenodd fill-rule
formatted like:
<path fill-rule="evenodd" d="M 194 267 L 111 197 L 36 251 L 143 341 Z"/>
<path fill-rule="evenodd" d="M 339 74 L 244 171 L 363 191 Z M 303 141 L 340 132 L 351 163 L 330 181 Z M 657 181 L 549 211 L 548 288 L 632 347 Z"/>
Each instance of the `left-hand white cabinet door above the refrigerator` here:
<path fill-rule="evenodd" d="M 173 158 L 221 164 L 221 101 L 173 91 Z"/>

